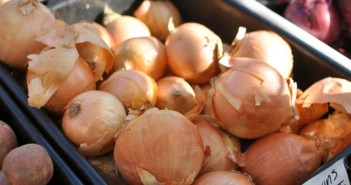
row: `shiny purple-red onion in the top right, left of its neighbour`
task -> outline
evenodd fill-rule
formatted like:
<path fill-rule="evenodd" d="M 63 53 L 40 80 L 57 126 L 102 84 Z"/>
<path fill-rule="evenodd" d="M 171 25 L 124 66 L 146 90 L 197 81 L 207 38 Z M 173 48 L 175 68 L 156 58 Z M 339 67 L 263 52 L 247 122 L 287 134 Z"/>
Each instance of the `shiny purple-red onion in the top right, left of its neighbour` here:
<path fill-rule="evenodd" d="M 341 32 L 339 14 L 329 0 L 293 0 L 284 17 L 327 44 Z"/>

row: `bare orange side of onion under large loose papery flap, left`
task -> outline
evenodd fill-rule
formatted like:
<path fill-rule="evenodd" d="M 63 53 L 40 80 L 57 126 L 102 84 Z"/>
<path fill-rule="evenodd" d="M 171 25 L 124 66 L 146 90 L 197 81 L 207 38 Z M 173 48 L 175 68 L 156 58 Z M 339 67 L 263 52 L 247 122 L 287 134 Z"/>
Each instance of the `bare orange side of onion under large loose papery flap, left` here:
<path fill-rule="evenodd" d="M 53 94 L 45 107 L 56 114 L 62 114 L 69 101 L 79 94 L 96 89 L 94 73 L 88 64 L 78 58 L 72 72 Z"/>

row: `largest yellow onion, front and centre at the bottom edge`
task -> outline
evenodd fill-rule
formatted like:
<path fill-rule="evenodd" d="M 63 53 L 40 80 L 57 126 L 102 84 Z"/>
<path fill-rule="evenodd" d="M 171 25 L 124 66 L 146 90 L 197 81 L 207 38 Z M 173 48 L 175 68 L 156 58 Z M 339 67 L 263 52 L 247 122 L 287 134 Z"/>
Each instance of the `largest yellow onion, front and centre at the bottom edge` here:
<path fill-rule="evenodd" d="M 153 108 L 118 133 L 114 159 L 129 184 L 191 184 L 201 169 L 204 150 L 189 119 Z"/>

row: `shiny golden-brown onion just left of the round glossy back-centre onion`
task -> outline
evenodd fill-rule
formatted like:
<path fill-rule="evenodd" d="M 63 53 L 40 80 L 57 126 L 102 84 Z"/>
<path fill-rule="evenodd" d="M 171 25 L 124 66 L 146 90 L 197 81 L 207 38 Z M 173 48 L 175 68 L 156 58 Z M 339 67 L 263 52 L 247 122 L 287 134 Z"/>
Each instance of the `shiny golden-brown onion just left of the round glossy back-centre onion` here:
<path fill-rule="evenodd" d="M 158 80 L 164 75 L 166 67 L 166 47 L 155 37 L 130 38 L 121 42 L 115 50 L 115 71 L 136 69 Z"/>

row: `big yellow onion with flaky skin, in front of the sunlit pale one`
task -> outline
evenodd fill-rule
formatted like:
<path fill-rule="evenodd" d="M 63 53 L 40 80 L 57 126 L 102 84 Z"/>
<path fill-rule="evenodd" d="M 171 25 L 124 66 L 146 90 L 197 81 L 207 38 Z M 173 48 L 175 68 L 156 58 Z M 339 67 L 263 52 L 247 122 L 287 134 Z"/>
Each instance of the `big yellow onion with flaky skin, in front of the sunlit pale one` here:
<path fill-rule="evenodd" d="M 237 58 L 232 68 L 213 81 L 213 89 L 215 117 L 236 137 L 264 136 L 292 116 L 289 87 L 266 63 Z"/>

